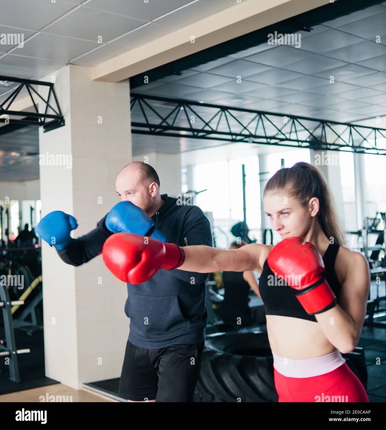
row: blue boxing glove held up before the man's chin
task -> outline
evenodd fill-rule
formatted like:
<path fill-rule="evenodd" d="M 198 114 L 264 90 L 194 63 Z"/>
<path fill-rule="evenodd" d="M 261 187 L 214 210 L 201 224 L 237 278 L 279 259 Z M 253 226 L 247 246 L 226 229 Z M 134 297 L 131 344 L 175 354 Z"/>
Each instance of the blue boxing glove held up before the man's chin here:
<path fill-rule="evenodd" d="M 154 221 L 145 212 L 127 200 L 117 203 L 107 214 L 105 224 L 112 233 L 134 233 L 150 236 L 161 242 L 168 238 L 155 228 Z"/>

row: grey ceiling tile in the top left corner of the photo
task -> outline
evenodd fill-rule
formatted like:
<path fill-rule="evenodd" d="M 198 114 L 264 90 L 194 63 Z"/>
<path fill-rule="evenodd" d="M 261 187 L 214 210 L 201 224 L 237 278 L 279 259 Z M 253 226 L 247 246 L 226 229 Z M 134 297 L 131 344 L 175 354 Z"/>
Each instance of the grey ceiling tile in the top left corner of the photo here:
<path fill-rule="evenodd" d="M 74 7 L 69 3 L 47 0 L 2 1 L 0 24 L 39 30 Z"/>

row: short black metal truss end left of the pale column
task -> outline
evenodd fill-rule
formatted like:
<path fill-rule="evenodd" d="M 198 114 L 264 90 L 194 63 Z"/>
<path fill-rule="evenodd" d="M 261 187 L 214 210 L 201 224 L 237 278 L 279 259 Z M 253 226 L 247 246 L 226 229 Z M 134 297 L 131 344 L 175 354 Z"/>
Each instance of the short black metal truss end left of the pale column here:
<path fill-rule="evenodd" d="M 53 83 L 2 75 L 0 75 L 0 81 L 6 81 L 8 85 L 12 83 L 18 84 L 17 86 L 13 86 L 9 91 L 9 95 L 0 102 L 0 122 L 5 123 L 9 121 L 9 123 L 18 124 L 20 126 L 43 126 L 44 132 L 64 126 L 64 117 L 60 110 Z M 46 98 L 39 94 L 38 88 L 34 88 L 34 86 L 40 85 L 49 87 Z M 34 106 L 33 112 L 12 111 L 10 109 L 12 103 L 16 100 L 23 88 L 28 91 L 31 97 L 31 102 Z M 39 112 L 38 105 L 35 103 L 32 96 L 33 93 L 44 102 L 44 113 Z M 53 112 L 52 114 L 48 113 L 49 109 Z M 3 129 L 3 127 L 0 127 L 0 129 Z"/>

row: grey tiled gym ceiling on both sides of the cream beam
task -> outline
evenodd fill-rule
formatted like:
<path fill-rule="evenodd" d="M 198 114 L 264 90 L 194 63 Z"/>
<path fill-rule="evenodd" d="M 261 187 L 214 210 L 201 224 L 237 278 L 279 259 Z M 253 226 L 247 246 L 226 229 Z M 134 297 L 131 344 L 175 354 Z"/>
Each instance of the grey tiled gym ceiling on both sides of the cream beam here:
<path fill-rule="evenodd" d="M 286 22 L 286 28 L 301 34 L 300 48 L 268 45 L 267 29 L 265 43 L 252 32 L 231 47 L 228 41 L 203 49 L 201 61 L 199 54 L 190 55 L 129 75 L 133 92 L 368 125 L 369 119 L 386 115 L 386 2 L 335 3 L 344 4 L 346 13 L 329 13 L 325 19 L 313 9 Z M 50 0 L 0 0 L 0 34 L 21 29 L 25 35 L 23 49 L 0 44 L 0 74 L 39 80 L 65 64 L 77 64 L 94 67 L 100 75 L 105 62 L 226 9 L 236 13 L 237 7 L 233 0 L 162 0 L 151 8 L 137 0 L 56 0 L 55 5 Z M 299 23 L 304 30 L 299 31 Z M 102 44 L 95 42 L 101 29 Z M 146 74 L 152 80 L 141 85 Z M 238 74 L 241 84 L 235 80 Z M 14 87 L 0 83 L 0 101 Z M 158 105 L 165 115 L 170 112 L 167 102 Z M 214 144 L 132 135 L 133 155 Z M 37 127 L 0 133 L 0 181 L 38 178 L 38 152 Z"/>

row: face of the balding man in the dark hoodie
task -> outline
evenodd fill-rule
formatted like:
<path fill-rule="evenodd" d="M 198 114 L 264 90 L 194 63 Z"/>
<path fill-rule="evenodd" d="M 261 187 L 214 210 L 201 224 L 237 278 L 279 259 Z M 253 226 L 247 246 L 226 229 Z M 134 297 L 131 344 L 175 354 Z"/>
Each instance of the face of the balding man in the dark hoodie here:
<path fill-rule="evenodd" d="M 127 200 L 148 213 L 152 207 L 150 187 L 143 183 L 137 169 L 121 172 L 116 178 L 116 192 L 122 201 Z"/>

